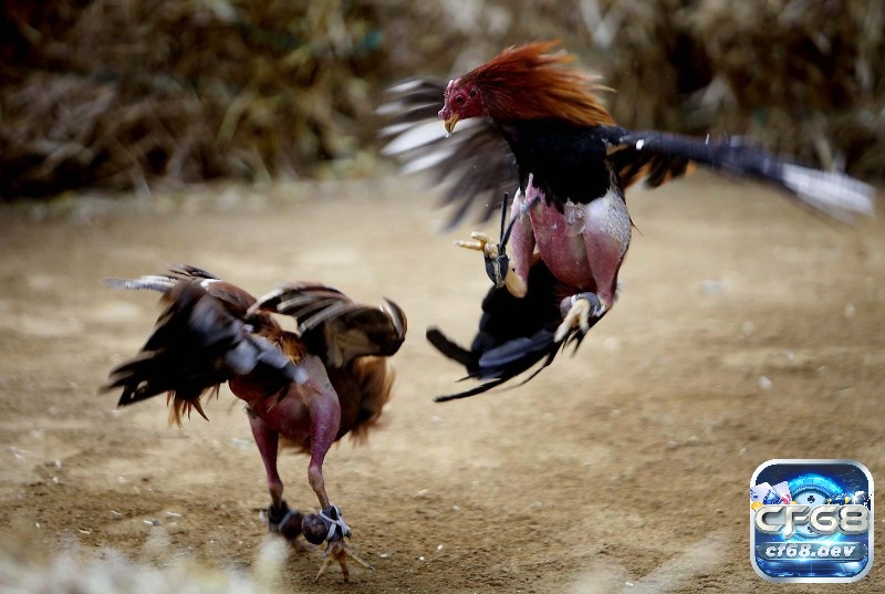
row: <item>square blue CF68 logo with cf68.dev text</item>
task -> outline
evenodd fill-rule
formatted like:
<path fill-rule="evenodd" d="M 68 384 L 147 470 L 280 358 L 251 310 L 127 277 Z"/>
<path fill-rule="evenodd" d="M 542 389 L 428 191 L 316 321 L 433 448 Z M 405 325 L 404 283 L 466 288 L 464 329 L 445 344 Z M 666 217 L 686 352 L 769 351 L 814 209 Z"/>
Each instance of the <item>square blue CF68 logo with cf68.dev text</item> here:
<path fill-rule="evenodd" d="M 861 580 L 873 528 L 873 477 L 854 460 L 769 460 L 750 480 L 750 560 L 769 582 Z"/>

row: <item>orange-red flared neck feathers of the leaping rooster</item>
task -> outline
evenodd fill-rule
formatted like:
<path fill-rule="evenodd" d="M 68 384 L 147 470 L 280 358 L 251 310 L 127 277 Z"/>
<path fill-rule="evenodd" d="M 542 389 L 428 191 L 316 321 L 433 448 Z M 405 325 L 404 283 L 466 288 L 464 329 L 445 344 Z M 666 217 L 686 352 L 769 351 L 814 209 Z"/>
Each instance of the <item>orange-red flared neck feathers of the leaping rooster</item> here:
<path fill-rule="evenodd" d="M 497 121 L 562 119 L 576 125 L 614 124 L 593 91 L 608 90 L 574 67 L 574 55 L 551 53 L 559 41 L 511 46 L 461 76 L 482 94 L 488 115 Z"/>

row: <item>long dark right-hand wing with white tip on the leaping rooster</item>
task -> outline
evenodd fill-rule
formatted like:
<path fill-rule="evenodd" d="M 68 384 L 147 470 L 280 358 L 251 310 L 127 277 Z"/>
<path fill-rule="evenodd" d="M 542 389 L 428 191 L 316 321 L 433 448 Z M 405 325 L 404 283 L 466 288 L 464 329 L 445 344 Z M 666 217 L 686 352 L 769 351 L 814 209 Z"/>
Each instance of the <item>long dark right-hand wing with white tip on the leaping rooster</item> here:
<path fill-rule="evenodd" d="M 601 126 L 600 131 L 625 186 L 642 176 L 657 186 L 697 163 L 716 171 L 773 183 L 800 201 L 841 220 L 874 212 L 872 186 L 841 173 L 791 163 L 741 138 L 701 139 L 618 126 Z"/>

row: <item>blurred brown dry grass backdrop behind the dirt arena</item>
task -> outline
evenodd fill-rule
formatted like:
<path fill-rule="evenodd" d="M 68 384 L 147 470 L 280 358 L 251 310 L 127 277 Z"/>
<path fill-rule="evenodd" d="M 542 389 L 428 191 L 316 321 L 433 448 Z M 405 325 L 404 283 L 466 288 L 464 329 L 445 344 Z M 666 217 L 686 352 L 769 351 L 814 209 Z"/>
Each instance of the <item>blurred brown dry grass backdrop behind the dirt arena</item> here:
<path fill-rule="evenodd" d="M 885 174 L 882 0 L 7 0 L 0 196 L 378 171 L 414 75 L 561 39 L 635 128 Z"/>

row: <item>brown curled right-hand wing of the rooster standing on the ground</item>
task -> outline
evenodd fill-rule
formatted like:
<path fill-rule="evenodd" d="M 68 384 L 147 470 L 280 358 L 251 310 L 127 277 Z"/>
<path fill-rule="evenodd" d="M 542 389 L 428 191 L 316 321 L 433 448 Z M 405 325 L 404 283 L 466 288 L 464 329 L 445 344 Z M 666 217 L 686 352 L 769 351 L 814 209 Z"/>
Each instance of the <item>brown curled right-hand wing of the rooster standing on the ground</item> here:
<path fill-rule="evenodd" d="M 283 285 L 260 298 L 253 311 L 295 317 L 308 350 L 333 367 L 365 355 L 391 356 L 406 336 L 406 315 L 393 301 L 372 308 L 320 283 Z"/>

